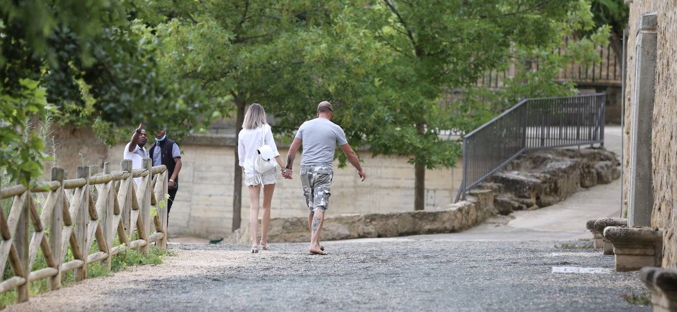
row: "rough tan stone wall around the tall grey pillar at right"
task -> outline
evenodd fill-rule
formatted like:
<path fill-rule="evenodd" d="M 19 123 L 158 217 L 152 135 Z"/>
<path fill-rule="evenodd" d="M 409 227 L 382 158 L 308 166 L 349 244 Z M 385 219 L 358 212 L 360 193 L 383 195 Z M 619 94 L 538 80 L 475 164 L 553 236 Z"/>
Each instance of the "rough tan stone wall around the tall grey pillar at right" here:
<path fill-rule="evenodd" d="M 653 110 L 653 227 L 665 228 L 663 267 L 677 267 L 677 1 L 635 0 L 630 4 L 628 38 L 628 74 L 626 78 L 624 140 L 630 142 L 632 90 L 634 87 L 637 20 L 645 12 L 657 12 L 657 64 Z M 624 165 L 630 159 L 630 144 L 625 145 Z M 628 190 L 628 179 L 624 191 Z M 623 192 L 627 194 L 628 192 Z M 624 195 L 624 200 L 627 200 Z"/>

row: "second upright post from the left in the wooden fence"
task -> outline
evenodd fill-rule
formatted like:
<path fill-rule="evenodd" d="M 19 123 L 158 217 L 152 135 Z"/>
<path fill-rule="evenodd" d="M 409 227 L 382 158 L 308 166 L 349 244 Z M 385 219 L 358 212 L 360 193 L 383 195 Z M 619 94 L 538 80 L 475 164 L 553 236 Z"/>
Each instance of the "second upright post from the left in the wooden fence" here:
<path fill-rule="evenodd" d="M 56 203 L 54 208 L 52 208 L 51 217 L 49 217 L 49 248 L 51 248 L 54 258 L 54 268 L 58 270 L 56 275 L 49 277 L 47 280 L 51 290 L 61 288 L 61 264 L 64 262 L 61 231 L 63 230 L 64 209 L 66 209 L 66 213 L 68 212 L 68 206 L 64 207 L 64 176 L 64 169 L 51 169 L 51 181 L 59 181 L 60 183 L 59 187 L 54 191 L 56 192 Z"/>

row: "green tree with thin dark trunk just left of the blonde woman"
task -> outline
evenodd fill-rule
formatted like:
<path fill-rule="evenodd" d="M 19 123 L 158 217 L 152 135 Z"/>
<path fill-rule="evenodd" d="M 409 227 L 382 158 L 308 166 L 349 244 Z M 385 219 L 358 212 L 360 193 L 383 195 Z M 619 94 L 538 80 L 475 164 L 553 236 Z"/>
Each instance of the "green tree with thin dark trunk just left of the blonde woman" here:
<path fill-rule="evenodd" d="M 254 102 L 279 119 L 276 131 L 290 133 L 322 99 L 376 98 L 373 88 L 359 90 L 364 81 L 374 85 L 369 67 L 380 62 L 375 41 L 355 22 L 366 14 L 359 1 L 157 1 L 153 9 L 166 17 L 156 25 L 160 64 L 175 81 L 232 103 L 219 109 L 234 113 L 236 135 Z M 235 153 L 232 229 L 242 203 Z"/>

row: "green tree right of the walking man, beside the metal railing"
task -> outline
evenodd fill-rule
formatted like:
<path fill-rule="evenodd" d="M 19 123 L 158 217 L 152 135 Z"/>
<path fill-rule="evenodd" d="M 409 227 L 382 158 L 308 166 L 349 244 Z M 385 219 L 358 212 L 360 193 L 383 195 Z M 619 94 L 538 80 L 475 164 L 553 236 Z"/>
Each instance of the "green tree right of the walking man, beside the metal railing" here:
<path fill-rule="evenodd" d="M 553 48 L 559 47 L 564 33 L 592 27 L 590 5 L 582 0 L 383 0 L 374 11 L 380 13 L 372 28 L 375 39 L 394 53 L 384 74 L 389 77 L 384 83 L 394 91 L 384 94 L 383 110 L 378 112 L 383 122 L 370 129 L 365 141 L 375 154 L 410 157 L 416 210 L 424 208 L 426 169 L 453 166 L 460 154 L 458 143 L 443 139 L 441 131 L 477 127 L 491 116 L 492 105 L 514 104 L 510 97 L 531 95 L 524 91 L 542 90 L 543 95 L 571 91 L 546 79 L 567 62 L 555 58 Z M 594 44 L 582 39 L 579 47 L 568 61 L 590 55 Z M 527 56 L 540 57 L 548 66 L 523 70 L 500 93 L 502 102 L 475 100 L 472 95 L 482 91 L 473 85 L 485 72 Z M 441 106 L 456 89 L 465 90 L 466 97 Z"/>

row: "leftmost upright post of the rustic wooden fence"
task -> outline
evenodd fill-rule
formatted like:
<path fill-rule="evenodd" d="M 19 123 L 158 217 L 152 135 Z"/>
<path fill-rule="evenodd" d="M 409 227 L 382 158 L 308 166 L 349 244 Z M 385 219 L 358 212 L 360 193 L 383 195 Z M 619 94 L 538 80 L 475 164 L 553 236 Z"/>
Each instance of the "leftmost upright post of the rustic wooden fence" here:
<path fill-rule="evenodd" d="M 21 212 L 19 214 L 19 220 L 16 226 L 16 231 L 14 232 L 14 245 L 16 246 L 16 253 L 19 257 L 20 270 L 16 271 L 16 275 L 23 277 L 26 282 L 24 284 L 17 286 L 16 292 L 18 293 L 18 302 L 23 303 L 28 301 L 28 289 L 30 282 L 28 282 L 28 275 L 30 275 L 30 239 L 28 238 L 28 219 L 30 218 L 30 201 L 32 200 L 30 196 L 30 190 L 24 192 L 24 204 L 21 206 Z"/>

